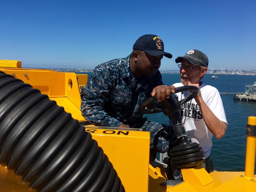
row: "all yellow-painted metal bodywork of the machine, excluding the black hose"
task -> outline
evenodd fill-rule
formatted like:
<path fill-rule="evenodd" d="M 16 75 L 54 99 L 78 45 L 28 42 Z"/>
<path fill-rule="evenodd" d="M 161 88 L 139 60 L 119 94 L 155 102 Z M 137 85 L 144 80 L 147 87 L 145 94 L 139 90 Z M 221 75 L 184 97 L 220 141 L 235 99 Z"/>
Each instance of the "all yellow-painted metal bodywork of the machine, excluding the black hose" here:
<path fill-rule="evenodd" d="M 86 121 L 80 111 L 80 88 L 88 81 L 87 75 L 45 69 L 21 69 L 21 62 L 7 60 L 0 60 L 0 71 L 39 89 L 64 107 L 74 119 Z M 248 124 L 256 126 L 256 117 L 249 117 Z M 97 140 L 107 154 L 126 192 L 256 192 L 256 136 L 247 136 L 245 172 L 214 171 L 209 174 L 199 166 L 182 169 L 184 181 L 169 185 L 164 167 L 153 167 L 149 164 L 149 132 L 95 126 L 85 126 L 85 130 L 92 134 L 92 138 Z M 0 186 L 0 192 L 30 191 L 6 167 L 0 167 Z"/>

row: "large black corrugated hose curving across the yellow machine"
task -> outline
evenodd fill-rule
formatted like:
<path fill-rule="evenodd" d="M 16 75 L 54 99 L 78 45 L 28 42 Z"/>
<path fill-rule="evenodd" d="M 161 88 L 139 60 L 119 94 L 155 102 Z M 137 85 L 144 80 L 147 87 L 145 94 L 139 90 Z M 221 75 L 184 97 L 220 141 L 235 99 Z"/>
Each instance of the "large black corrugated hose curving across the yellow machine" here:
<path fill-rule="evenodd" d="M 124 192 L 108 157 L 78 121 L 0 71 L 0 164 L 37 192 Z"/>

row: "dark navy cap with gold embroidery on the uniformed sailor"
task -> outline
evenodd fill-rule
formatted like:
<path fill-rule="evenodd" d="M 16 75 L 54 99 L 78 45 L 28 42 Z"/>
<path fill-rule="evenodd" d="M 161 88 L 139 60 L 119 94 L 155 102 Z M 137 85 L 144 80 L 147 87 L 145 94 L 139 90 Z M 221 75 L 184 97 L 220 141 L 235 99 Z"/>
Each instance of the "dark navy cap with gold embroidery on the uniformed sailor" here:
<path fill-rule="evenodd" d="M 136 40 L 133 45 L 133 50 L 143 50 L 149 55 L 172 58 L 170 53 L 164 52 L 164 43 L 159 36 L 143 35 Z"/>

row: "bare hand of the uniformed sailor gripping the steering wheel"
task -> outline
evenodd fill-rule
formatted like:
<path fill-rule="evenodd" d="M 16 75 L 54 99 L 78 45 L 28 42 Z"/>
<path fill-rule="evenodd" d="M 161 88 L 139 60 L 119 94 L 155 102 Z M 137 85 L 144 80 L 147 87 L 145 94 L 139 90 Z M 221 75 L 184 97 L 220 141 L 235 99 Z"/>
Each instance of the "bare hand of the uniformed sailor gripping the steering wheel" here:
<path fill-rule="evenodd" d="M 166 98 L 169 99 L 173 93 L 175 93 L 175 87 L 173 85 L 158 85 L 152 90 L 151 96 L 157 96 L 157 100 L 161 102 Z"/>

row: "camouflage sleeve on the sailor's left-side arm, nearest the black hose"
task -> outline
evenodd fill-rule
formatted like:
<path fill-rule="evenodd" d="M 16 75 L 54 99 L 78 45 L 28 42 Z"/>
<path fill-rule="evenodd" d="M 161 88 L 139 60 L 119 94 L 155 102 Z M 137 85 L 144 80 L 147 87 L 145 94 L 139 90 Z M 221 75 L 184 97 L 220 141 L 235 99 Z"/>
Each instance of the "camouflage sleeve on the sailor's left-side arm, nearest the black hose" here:
<path fill-rule="evenodd" d="M 90 123 L 96 126 L 119 127 L 122 122 L 109 116 L 104 110 L 105 102 L 111 96 L 113 76 L 106 71 L 92 74 L 84 88 L 81 102 L 81 114 Z"/>

